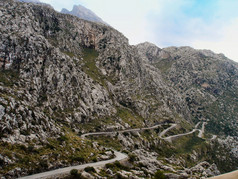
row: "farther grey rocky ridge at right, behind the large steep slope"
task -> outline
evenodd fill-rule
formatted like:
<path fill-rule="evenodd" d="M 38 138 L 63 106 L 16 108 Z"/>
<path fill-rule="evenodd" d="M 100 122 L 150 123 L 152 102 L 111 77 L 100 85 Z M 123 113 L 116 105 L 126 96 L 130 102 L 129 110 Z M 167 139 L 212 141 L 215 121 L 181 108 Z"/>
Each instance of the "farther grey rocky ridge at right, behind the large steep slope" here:
<path fill-rule="evenodd" d="M 208 119 L 214 133 L 237 136 L 238 65 L 223 54 L 191 47 L 137 45 L 148 63 L 186 101 L 194 120 Z"/>

